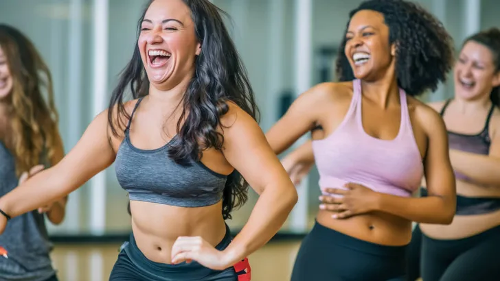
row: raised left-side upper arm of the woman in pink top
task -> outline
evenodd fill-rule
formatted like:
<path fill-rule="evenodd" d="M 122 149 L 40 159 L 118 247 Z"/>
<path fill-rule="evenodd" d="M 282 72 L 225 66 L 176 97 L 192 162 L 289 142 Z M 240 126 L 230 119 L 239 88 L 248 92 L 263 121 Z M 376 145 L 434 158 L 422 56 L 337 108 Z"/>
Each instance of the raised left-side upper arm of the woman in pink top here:
<path fill-rule="evenodd" d="M 300 136 L 312 129 L 319 119 L 319 112 L 315 108 L 325 101 L 331 91 L 331 84 L 319 84 L 297 97 L 284 116 L 266 133 L 275 154 L 281 154 Z"/>

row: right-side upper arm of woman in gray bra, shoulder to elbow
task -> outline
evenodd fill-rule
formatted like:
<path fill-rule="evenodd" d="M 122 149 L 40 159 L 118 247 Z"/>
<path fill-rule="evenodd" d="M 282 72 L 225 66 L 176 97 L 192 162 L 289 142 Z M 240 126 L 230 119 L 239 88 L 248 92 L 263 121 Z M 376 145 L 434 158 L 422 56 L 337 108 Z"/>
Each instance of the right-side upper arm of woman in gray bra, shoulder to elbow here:
<path fill-rule="evenodd" d="M 297 196 L 295 186 L 264 133 L 247 112 L 229 103 L 229 112 L 221 122 L 229 126 L 223 129 L 224 156 L 256 193 L 262 193 L 266 186 L 273 184 Z"/>

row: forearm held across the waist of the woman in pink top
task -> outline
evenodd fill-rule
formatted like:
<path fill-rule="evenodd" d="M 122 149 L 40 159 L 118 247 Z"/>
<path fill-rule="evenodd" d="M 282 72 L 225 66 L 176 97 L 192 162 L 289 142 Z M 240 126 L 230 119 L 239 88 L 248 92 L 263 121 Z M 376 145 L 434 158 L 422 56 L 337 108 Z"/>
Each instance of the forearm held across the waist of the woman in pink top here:
<path fill-rule="evenodd" d="M 449 224 L 455 216 L 455 206 L 455 197 L 415 198 L 378 193 L 376 210 L 417 223 Z"/>

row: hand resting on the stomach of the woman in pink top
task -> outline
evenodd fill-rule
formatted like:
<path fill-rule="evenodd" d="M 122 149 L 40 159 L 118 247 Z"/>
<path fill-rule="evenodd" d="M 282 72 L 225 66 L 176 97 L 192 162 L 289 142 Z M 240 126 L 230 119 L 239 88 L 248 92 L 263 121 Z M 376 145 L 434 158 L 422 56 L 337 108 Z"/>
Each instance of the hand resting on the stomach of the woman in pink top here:
<path fill-rule="evenodd" d="M 378 195 L 366 186 L 361 184 L 353 184 L 352 182 L 341 188 L 325 188 L 324 192 L 332 195 L 341 195 L 339 197 L 332 197 L 328 195 L 321 195 L 319 200 L 321 210 L 330 210 L 337 212 L 332 215 L 334 219 L 346 219 L 354 215 L 360 215 L 367 212 L 376 210 Z"/>

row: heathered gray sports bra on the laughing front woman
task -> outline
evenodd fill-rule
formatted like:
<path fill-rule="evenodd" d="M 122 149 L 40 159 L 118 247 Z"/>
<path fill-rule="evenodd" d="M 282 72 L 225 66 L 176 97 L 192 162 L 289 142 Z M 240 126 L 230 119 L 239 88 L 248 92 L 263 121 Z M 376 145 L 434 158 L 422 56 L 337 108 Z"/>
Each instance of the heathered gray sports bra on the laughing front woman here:
<path fill-rule="evenodd" d="M 179 207 L 201 207 L 216 204 L 223 197 L 227 176 L 216 173 L 201 161 L 177 164 L 168 157 L 168 145 L 157 149 L 139 149 L 130 142 L 130 123 L 117 151 L 115 171 L 118 182 L 130 200 L 147 201 Z M 172 140 L 170 140 L 172 141 Z"/>

